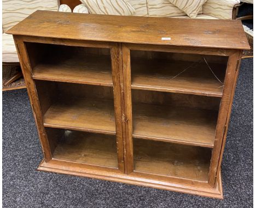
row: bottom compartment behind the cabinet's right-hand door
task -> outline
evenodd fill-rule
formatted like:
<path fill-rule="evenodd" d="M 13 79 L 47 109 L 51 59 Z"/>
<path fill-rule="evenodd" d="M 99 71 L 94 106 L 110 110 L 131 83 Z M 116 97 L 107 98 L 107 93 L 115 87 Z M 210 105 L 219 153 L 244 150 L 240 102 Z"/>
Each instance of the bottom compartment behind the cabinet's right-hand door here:
<path fill-rule="evenodd" d="M 135 172 L 208 180 L 211 149 L 133 139 Z"/>

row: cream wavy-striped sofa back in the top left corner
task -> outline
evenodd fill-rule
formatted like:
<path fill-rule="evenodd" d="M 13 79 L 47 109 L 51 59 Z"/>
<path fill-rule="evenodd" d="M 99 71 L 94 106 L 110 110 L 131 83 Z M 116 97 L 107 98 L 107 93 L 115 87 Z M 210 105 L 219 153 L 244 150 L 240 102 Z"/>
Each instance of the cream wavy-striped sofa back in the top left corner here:
<path fill-rule="evenodd" d="M 36 10 L 58 10 L 57 0 L 3 0 L 2 5 L 4 32 Z"/>

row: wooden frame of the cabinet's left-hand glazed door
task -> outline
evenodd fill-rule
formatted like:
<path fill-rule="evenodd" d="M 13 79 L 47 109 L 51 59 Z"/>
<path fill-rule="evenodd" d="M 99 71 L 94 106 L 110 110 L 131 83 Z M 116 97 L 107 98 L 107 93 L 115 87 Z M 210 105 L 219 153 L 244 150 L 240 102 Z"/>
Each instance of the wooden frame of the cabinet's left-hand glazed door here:
<path fill-rule="evenodd" d="M 114 92 L 114 109 L 115 109 L 115 127 L 116 127 L 116 139 L 117 139 L 117 155 L 118 155 L 118 172 L 124 173 L 124 146 L 123 146 L 123 129 L 122 129 L 122 109 L 121 109 L 121 91 L 120 91 L 120 68 L 119 68 L 119 48 L 115 42 L 101 42 L 101 41 L 84 41 L 84 40 L 69 40 L 69 39 L 56 39 L 56 38 L 42 38 L 34 36 L 19 36 L 14 35 L 14 41 L 18 56 L 20 59 L 21 69 L 25 77 L 26 85 L 28 86 L 28 96 L 30 97 L 31 106 L 33 109 L 34 119 L 36 121 L 37 130 L 39 133 L 40 143 L 44 153 L 44 161 L 55 164 L 69 164 L 72 162 L 63 162 L 59 160 L 53 160 L 51 155 L 49 140 L 46 134 L 46 130 L 43 122 L 43 114 L 38 100 L 38 94 L 36 90 L 36 84 L 32 78 L 32 67 L 26 50 L 25 42 L 36 42 L 43 44 L 56 44 L 66 46 L 80 46 L 80 47 L 99 47 L 109 48 L 111 63 L 112 63 L 112 78 L 113 78 L 113 92 Z M 77 167 L 91 168 L 89 166 L 79 165 Z M 93 166 L 95 169 L 105 170 L 107 168 Z"/>

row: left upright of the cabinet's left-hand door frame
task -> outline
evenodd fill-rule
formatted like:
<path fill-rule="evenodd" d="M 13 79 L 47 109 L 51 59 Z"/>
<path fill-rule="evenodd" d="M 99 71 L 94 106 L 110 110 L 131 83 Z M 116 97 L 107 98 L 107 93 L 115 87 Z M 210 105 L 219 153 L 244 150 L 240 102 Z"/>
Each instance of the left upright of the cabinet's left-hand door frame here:
<path fill-rule="evenodd" d="M 30 61 L 28 59 L 26 46 L 21 36 L 14 35 L 14 41 L 18 51 L 22 73 L 26 82 L 28 96 L 30 97 L 30 103 L 33 109 L 34 119 L 36 121 L 36 126 L 40 138 L 40 143 L 42 145 L 45 162 L 48 162 L 49 160 L 51 160 L 51 150 L 44 129 L 43 115 L 38 100 L 36 85 L 32 79 L 32 70 Z"/>

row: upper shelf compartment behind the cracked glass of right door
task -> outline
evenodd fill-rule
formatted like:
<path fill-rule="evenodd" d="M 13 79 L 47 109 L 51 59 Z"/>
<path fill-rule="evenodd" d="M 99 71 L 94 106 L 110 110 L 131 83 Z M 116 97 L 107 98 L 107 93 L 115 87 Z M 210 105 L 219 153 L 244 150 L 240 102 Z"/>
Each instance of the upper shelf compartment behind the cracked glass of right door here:
<path fill-rule="evenodd" d="M 214 77 L 206 63 L 187 69 L 191 64 L 193 62 L 131 59 L 132 89 L 222 97 L 224 84 Z M 210 65 L 214 74 L 223 82 L 226 66 Z"/>

